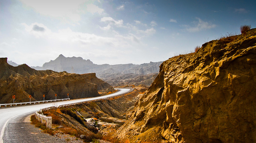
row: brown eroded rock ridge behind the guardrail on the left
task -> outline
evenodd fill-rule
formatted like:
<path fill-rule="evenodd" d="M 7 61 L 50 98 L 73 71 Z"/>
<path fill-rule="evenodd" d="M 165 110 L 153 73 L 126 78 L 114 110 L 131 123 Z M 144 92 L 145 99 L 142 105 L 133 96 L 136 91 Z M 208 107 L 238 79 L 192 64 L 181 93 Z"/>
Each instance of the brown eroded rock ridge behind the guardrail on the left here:
<path fill-rule="evenodd" d="M 67 98 L 71 99 L 99 96 L 98 90 L 113 91 L 113 87 L 96 77 L 95 73 L 70 74 L 51 70 L 37 71 L 26 64 L 13 67 L 7 58 L 0 58 L 0 103 L 42 101 Z"/>

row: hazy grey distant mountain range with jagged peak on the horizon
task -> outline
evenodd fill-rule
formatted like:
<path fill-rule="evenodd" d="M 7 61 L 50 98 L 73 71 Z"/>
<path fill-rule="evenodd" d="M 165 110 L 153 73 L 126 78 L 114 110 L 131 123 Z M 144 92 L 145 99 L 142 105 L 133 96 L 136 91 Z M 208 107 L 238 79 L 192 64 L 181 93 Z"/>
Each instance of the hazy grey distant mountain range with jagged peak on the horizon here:
<path fill-rule="evenodd" d="M 12 66 L 17 66 L 18 64 L 8 61 L 9 64 Z M 84 60 L 81 57 L 64 57 L 62 54 L 59 55 L 55 60 L 51 60 L 48 63 L 43 64 L 42 67 L 36 66 L 31 67 L 36 70 L 46 70 L 50 69 L 56 72 L 67 71 L 69 73 L 76 73 L 76 74 L 86 74 L 86 73 L 96 73 L 96 76 L 100 79 L 105 80 L 108 83 L 112 83 L 112 85 L 120 85 L 115 84 L 118 82 L 117 78 L 120 79 L 120 83 L 129 84 L 125 82 L 127 79 L 136 77 L 136 76 L 143 76 L 143 75 L 150 75 L 153 73 L 159 72 L 159 66 L 162 63 L 160 62 L 150 62 L 144 64 L 94 64 L 90 60 Z M 126 75 L 124 78 L 124 75 Z M 122 77 L 122 78 L 119 78 Z M 143 79 L 143 78 L 142 78 Z M 152 76 L 146 77 L 146 84 L 150 85 L 151 82 L 148 81 L 151 79 L 153 82 L 154 78 Z M 115 83 L 113 83 L 115 81 Z M 143 81 L 140 81 L 143 83 Z"/>

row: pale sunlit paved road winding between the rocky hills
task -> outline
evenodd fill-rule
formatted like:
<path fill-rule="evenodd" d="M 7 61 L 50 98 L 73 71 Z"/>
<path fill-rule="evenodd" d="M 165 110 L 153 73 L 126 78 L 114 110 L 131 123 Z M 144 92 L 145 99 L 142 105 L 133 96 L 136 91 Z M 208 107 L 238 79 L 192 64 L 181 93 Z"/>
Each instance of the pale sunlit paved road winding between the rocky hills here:
<path fill-rule="evenodd" d="M 39 111 L 42 108 L 72 104 L 72 103 L 83 102 L 83 101 L 91 101 L 95 99 L 105 99 L 106 97 L 116 96 L 131 90 L 127 88 L 116 88 L 116 89 L 118 90 L 116 93 L 105 95 L 105 96 L 99 96 L 99 97 L 83 98 L 83 99 L 75 99 L 70 101 L 51 102 L 51 103 L 35 104 L 35 105 L 24 105 L 24 106 L 16 106 L 16 107 L 5 107 L 5 108 L 1 107 L 0 108 L 0 129 L 1 129 L 0 143 L 4 142 L 3 136 L 6 134 L 5 127 L 9 124 L 10 121 L 14 123 L 14 121 L 19 119 L 20 117 L 35 113 L 36 111 Z"/>

